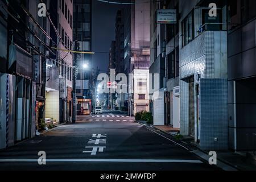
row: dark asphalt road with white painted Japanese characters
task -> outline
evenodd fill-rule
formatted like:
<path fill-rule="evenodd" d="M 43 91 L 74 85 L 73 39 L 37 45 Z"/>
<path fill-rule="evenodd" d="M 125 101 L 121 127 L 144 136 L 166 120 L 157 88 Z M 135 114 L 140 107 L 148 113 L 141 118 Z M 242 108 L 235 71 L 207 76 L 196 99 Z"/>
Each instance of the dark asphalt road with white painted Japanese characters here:
<path fill-rule="evenodd" d="M 127 115 L 78 117 L 0 152 L 0 170 L 218 170 Z M 46 165 L 39 165 L 39 151 Z M 40 162 L 44 162 L 40 158 Z"/>

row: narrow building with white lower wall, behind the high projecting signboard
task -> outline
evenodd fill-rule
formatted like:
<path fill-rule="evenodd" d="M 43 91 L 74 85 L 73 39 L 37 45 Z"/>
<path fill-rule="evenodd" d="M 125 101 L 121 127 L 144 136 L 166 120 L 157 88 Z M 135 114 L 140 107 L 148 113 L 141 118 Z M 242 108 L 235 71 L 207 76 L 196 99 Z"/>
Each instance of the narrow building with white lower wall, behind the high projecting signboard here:
<path fill-rule="evenodd" d="M 155 109 L 162 111 L 161 114 L 155 112 L 153 122 L 179 128 L 179 24 L 156 22 L 158 10 L 175 9 L 179 12 L 179 1 L 151 2 L 150 9 L 150 73 L 152 77 L 158 74 L 157 81 L 154 79 L 154 92 L 150 93 L 150 108 L 153 115 Z"/>

